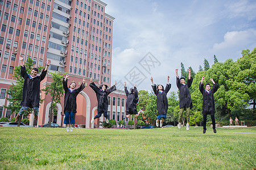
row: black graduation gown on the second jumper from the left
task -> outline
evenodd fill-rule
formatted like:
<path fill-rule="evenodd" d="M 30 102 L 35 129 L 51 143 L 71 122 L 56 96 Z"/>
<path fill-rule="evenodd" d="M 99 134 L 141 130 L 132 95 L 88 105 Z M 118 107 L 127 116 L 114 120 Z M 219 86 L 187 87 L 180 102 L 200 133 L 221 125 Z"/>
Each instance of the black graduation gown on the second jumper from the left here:
<path fill-rule="evenodd" d="M 63 88 L 65 91 L 64 96 L 64 113 L 65 112 L 73 112 L 76 113 L 76 97 L 77 95 L 84 89 L 84 83 L 81 86 L 72 92 L 68 89 L 68 80 L 63 79 Z"/>

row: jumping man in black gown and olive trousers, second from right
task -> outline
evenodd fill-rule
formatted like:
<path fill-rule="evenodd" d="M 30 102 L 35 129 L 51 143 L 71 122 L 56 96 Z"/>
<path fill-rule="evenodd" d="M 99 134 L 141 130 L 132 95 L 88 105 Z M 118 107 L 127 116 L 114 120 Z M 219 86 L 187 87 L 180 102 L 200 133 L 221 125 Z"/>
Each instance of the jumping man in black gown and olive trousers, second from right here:
<path fill-rule="evenodd" d="M 190 109 L 193 107 L 192 99 L 189 92 L 189 87 L 193 82 L 193 78 L 191 77 L 191 70 L 188 69 L 188 83 L 185 84 L 185 78 L 179 78 L 177 74 L 178 69 L 175 70 L 176 72 L 176 84 L 177 88 L 179 89 L 179 97 L 180 97 L 180 113 L 179 113 L 179 124 L 178 128 L 181 128 L 181 117 L 184 111 L 187 113 L 187 127 L 186 129 L 189 130 L 189 116 L 190 116 Z"/>

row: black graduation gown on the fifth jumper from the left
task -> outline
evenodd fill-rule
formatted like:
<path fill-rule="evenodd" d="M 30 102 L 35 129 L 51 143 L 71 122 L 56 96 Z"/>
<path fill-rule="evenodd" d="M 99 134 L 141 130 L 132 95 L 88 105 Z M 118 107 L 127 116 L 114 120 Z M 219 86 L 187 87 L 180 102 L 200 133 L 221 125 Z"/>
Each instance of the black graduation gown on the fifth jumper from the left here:
<path fill-rule="evenodd" d="M 160 114 L 167 114 L 168 109 L 168 99 L 167 93 L 171 88 L 171 84 L 166 84 L 166 90 L 163 89 L 163 92 L 159 92 L 156 90 L 156 84 L 152 85 L 152 89 L 156 95 L 156 107 L 158 109 L 158 115 Z"/>

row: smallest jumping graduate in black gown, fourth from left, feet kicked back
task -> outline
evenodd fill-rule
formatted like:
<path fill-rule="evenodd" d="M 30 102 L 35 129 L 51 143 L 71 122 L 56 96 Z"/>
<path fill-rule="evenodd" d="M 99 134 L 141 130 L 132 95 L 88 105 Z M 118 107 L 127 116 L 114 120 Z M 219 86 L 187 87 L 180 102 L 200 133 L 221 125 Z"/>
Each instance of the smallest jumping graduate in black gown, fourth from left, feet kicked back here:
<path fill-rule="evenodd" d="M 125 94 L 126 94 L 126 117 L 130 118 L 131 114 L 135 117 L 138 117 L 140 113 L 144 113 L 141 109 L 137 112 L 137 104 L 139 103 L 138 91 L 136 84 L 133 85 L 133 88 L 130 89 L 130 93 L 127 90 L 126 82 L 125 85 Z"/>

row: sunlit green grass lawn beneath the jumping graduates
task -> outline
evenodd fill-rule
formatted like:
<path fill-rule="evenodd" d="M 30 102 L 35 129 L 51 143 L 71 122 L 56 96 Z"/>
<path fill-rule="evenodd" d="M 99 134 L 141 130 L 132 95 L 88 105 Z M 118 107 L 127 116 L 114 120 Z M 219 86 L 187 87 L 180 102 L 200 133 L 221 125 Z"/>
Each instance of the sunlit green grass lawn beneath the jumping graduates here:
<path fill-rule="evenodd" d="M 0 169 L 255 169 L 256 128 L 0 128 Z"/>

